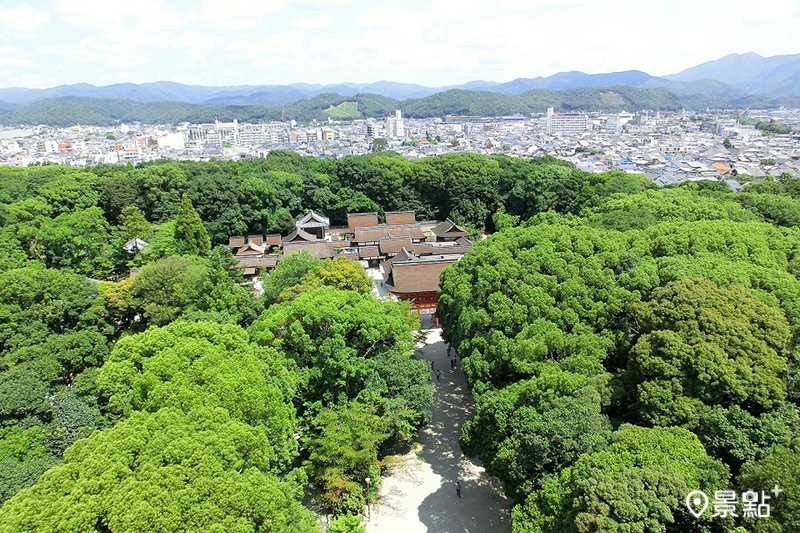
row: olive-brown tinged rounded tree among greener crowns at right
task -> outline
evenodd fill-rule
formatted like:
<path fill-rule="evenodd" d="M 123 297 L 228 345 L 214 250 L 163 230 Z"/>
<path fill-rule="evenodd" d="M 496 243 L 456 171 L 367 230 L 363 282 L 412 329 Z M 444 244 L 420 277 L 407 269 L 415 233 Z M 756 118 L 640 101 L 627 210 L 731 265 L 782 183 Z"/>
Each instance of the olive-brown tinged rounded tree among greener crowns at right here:
<path fill-rule="evenodd" d="M 759 414 L 786 398 L 789 325 L 754 294 L 686 278 L 635 309 L 643 335 L 626 379 L 642 420 L 693 429 L 713 405 Z"/>

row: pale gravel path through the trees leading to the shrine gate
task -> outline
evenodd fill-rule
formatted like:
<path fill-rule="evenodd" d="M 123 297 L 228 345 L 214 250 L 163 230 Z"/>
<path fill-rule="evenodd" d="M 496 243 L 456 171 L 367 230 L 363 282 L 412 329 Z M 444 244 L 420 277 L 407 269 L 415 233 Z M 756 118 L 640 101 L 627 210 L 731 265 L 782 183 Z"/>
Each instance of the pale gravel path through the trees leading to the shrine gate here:
<path fill-rule="evenodd" d="M 420 445 L 399 457 L 370 506 L 369 533 L 506 533 L 511 501 L 480 462 L 461 453 L 458 437 L 472 412 L 472 396 L 460 370 L 451 372 L 441 329 L 425 330 L 422 357 L 441 369 L 434 384 L 433 418 Z M 455 482 L 461 481 L 461 498 Z"/>

